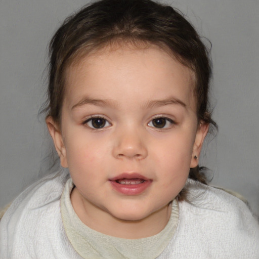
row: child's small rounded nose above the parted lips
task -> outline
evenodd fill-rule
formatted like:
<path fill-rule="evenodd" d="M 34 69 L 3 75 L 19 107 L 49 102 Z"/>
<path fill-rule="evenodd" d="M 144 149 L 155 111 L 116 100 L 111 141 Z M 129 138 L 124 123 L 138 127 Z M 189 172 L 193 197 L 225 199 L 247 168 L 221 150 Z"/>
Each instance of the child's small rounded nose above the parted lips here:
<path fill-rule="evenodd" d="M 113 156 L 115 158 L 136 158 L 141 160 L 148 155 L 144 136 L 137 131 L 123 131 L 115 136 Z"/>

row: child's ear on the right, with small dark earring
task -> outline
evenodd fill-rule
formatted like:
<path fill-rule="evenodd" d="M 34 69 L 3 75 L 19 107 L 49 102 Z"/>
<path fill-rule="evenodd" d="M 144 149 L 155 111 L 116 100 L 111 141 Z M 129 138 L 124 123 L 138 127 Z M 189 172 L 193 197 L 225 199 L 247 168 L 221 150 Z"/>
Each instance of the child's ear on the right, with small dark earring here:
<path fill-rule="evenodd" d="M 195 141 L 193 144 L 192 160 L 191 160 L 190 168 L 196 167 L 199 163 L 199 157 L 200 157 L 202 144 L 208 133 L 208 128 L 209 128 L 209 123 L 201 122 L 198 125 Z"/>

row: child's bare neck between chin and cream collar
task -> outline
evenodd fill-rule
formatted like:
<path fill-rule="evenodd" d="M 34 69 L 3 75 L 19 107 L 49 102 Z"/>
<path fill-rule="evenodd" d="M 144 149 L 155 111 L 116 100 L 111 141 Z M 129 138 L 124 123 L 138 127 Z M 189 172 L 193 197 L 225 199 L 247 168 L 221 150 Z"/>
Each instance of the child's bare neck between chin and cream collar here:
<path fill-rule="evenodd" d="M 166 226 L 171 213 L 171 203 L 169 203 L 144 219 L 121 220 L 94 204 L 91 204 L 92 207 L 89 210 L 89 204 L 86 206 L 85 199 L 76 188 L 71 193 L 71 203 L 83 224 L 103 234 L 127 239 L 145 238 L 158 234 Z"/>

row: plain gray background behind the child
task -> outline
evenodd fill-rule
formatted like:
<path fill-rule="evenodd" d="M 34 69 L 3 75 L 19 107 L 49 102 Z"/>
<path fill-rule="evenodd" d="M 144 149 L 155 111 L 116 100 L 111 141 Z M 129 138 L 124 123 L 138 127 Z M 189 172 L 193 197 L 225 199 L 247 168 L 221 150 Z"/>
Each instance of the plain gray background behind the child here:
<path fill-rule="evenodd" d="M 0 207 L 42 177 L 51 141 L 38 110 L 45 100 L 47 45 L 83 0 L 0 0 Z M 259 1 L 179 0 L 212 42 L 212 104 L 219 124 L 205 144 L 212 184 L 248 199 L 259 214 Z"/>

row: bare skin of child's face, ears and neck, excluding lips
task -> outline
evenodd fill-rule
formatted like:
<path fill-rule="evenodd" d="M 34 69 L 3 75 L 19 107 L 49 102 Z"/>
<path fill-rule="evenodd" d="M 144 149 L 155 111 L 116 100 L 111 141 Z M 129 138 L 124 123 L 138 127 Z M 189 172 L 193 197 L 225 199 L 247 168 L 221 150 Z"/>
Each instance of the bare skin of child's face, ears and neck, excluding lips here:
<path fill-rule="evenodd" d="M 107 48 L 68 67 L 61 125 L 51 117 L 47 125 L 85 225 L 121 238 L 165 227 L 208 130 L 197 121 L 193 85 L 193 72 L 155 47 Z M 110 179 L 124 172 L 150 185 L 137 195 L 118 192 Z"/>

